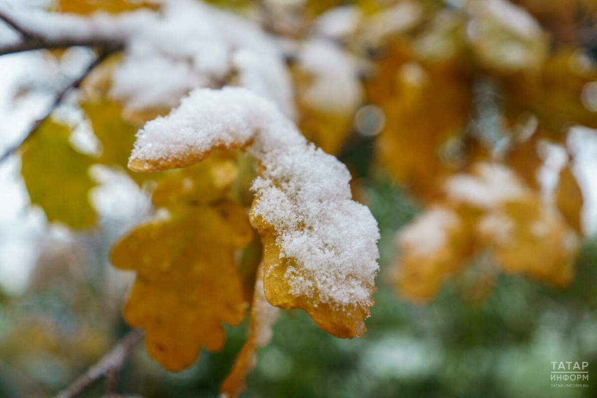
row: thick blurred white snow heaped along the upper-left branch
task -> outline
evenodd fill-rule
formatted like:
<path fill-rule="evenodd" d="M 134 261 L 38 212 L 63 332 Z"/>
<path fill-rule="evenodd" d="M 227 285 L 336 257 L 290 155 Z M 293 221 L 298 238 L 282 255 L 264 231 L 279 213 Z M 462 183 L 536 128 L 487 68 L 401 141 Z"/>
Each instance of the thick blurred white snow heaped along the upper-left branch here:
<path fill-rule="evenodd" d="M 91 16 L 12 10 L 0 17 L 21 38 L 0 55 L 71 46 L 124 48 L 110 94 L 124 112 L 168 110 L 193 88 L 234 83 L 294 113 L 290 76 L 275 40 L 256 24 L 192 0 L 166 0 L 158 12 L 136 10 Z"/>

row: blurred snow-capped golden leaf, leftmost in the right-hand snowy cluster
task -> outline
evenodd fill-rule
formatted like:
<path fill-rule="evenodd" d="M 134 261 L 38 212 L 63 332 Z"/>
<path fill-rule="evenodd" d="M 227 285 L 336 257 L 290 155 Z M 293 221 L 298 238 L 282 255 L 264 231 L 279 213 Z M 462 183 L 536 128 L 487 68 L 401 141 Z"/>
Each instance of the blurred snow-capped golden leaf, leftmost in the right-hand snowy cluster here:
<path fill-rule="evenodd" d="M 469 228 L 457 211 L 436 205 L 396 236 L 400 256 L 396 285 L 410 301 L 434 298 L 445 280 L 463 266 L 470 246 Z"/>

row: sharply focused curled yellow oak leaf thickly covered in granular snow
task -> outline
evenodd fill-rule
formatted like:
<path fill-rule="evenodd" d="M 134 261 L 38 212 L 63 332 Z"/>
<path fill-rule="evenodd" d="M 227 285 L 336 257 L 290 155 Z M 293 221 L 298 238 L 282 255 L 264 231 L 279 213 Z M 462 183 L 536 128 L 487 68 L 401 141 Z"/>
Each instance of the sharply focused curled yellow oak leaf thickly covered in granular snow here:
<path fill-rule="evenodd" d="M 374 304 L 377 223 L 351 200 L 350 173 L 279 109 L 242 88 L 199 89 L 137 133 L 129 167 L 158 171 L 244 148 L 260 163 L 251 222 L 265 246 L 270 304 L 303 308 L 337 337 L 361 337 Z"/>

